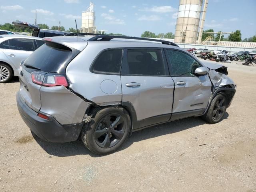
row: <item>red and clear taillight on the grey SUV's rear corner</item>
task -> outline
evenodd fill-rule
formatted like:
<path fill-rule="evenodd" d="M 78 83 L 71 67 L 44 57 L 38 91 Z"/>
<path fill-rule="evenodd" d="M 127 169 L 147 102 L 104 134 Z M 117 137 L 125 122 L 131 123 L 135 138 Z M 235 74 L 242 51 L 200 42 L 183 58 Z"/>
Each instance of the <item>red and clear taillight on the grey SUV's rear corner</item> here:
<path fill-rule="evenodd" d="M 46 87 L 53 87 L 53 86 L 68 86 L 68 81 L 66 76 L 61 74 L 53 74 L 47 73 L 44 74 L 42 72 L 32 72 L 31 73 L 32 82 L 38 85 L 46 86 Z"/>

